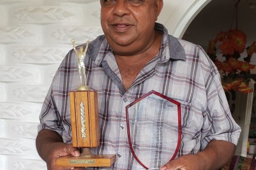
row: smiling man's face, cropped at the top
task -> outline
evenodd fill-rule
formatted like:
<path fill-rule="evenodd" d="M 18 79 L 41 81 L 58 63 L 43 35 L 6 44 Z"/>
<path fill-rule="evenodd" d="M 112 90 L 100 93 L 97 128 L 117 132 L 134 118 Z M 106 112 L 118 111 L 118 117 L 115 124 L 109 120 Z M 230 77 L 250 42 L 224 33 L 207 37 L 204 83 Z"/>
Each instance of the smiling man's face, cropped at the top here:
<path fill-rule="evenodd" d="M 136 50 L 150 41 L 162 8 L 159 2 L 162 0 L 101 0 L 101 26 L 114 52 L 129 46 Z"/>

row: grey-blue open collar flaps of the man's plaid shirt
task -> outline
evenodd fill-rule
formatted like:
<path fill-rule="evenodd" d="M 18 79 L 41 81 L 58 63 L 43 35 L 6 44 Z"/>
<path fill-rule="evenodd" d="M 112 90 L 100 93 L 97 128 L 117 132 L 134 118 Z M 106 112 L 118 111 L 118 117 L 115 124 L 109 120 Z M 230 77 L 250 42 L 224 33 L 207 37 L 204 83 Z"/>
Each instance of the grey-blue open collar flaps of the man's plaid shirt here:
<path fill-rule="evenodd" d="M 163 24 L 155 23 L 155 30 L 163 34 L 160 60 L 165 62 L 172 58 L 185 61 L 185 51 L 179 40 L 174 36 L 168 35 L 168 31 Z M 89 56 L 98 66 L 101 65 L 108 52 L 113 53 L 104 35 L 98 36 L 88 47 Z"/>

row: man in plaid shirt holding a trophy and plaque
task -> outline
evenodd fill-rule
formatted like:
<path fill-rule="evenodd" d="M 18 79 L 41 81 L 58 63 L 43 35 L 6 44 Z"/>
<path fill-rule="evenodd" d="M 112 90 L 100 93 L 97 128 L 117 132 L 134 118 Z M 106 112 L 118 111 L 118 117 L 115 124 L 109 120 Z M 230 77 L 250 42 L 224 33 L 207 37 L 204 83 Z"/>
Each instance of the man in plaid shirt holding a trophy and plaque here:
<path fill-rule="evenodd" d="M 93 152 L 117 154 L 113 167 L 102 169 L 141 168 L 127 144 L 125 107 L 151 90 L 179 101 L 182 120 L 175 160 L 160 158 L 154 168 L 218 169 L 234 153 L 240 128 L 220 75 L 199 46 L 169 36 L 155 23 L 162 6 L 163 0 L 101 0 L 105 35 L 90 42 L 84 62 L 88 86 L 98 92 L 101 139 Z M 36 146 L 48 169 L 61 169 L 55 168 L 59 156 L 79 156 L 70 144 L 68 96 L 79 86 L 75 57 L 71 50 L 64 58 L 40 114 Z"/>

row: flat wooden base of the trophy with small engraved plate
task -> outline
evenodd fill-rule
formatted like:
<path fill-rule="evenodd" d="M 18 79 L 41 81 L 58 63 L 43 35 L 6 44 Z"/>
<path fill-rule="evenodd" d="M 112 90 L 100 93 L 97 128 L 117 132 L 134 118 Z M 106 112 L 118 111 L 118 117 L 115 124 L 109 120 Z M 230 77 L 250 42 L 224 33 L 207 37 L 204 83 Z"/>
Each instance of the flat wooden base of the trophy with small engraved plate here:
<path fill-rule="evenodd" d="M 56 160 L 56 167 L 110 167 L 115 162 L 115 155 L 80 155 L 63 156 Z"/>

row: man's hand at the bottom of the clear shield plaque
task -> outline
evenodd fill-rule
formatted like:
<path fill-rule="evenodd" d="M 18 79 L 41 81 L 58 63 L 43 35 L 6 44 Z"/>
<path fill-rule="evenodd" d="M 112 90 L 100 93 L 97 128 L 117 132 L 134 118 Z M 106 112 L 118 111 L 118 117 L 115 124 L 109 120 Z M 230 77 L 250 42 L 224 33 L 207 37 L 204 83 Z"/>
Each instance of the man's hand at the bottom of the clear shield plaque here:
<path fill-rule="evenodd" d="M 195 170 L 204 169 L 204 162 L 197 155 L 184 155 L 164 165 L 161 170 Z"/>

